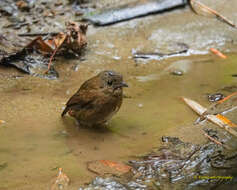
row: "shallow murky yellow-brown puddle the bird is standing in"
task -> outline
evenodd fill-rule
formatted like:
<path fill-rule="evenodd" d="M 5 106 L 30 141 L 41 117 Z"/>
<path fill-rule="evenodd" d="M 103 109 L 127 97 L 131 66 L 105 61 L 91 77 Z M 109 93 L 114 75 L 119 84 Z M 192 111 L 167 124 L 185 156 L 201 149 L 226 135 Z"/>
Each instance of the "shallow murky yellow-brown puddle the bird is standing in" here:
<path fill-rule="evenodd" d="M 134 67 L 131 73 L 124 73 L 130 86 L 125 90 L 128 98 L 105 129 L 78 128 L 69 116 L 60 117 L 63 103 L 87 78 L 79 71 L 65 83 L 63 77 L 61 81 L 30 76 L 10 79 L 12 86 L 1 92 L 0 102 L 1 119 L 6 121 L 0 128 L 0 164 L 7 164 L 0 171 L 2 189 L 45 188 L 59 167 L 70 176 L 72 187 L 78 187 L 93 176 L 86 170 L 87 161 L 125 161 L 157 146 L 162 135 L 203 142 L 200 129 L 192 126 L 197 116 L 179 97 L 208 105 L 206 94 L 219 92 L 236 80 L 231 77 L 237 70 L 236 57 L 228 56 L 226 61 L 194 56 L 164 61 L 162 66 Z M 177 60 L 189 62 L 183 76 L 171 75 L 167 69 L 177 66 Z M 145 73 L 158 77 L 139 81 Z M 88 71 L 88 76 L 93 74 Z"/>

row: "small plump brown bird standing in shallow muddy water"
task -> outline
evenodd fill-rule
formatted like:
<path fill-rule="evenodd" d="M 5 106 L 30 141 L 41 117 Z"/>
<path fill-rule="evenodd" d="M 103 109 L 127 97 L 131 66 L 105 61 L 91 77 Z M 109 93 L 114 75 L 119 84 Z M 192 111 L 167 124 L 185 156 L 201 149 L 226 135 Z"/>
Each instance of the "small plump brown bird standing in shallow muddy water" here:
<path fill-rule="evenodd" d="M 103 125 L 119 110 L 123 87 L 128 85 L 123 82 L 121 74 L 102 71 L 81 85 L 68 100 L 62 117 L 68 112 L 80 125 Z"/>

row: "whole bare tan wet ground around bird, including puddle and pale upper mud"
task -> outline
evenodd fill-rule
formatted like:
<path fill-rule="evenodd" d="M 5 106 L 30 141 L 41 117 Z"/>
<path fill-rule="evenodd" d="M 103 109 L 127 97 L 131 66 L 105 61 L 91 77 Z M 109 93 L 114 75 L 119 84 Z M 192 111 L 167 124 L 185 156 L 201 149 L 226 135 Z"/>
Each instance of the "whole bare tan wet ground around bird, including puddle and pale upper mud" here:
<path fill-rule="evenodd" d="M 213 7 L 237 23 L 237 2 L 225 2 Z M 231 76 L 237 73 L 236 32 L 186 8 L 108 27 L 90 25 L 85 60 L 57 58 L 57 80 L 0 67 L 0 119 L 6 121 L 0 125 L 0 189 L 48 189 L 59 167 L 70 177 L 70 189 L 77 189 L 95 176 L 87 171 L 87 161 L 127 161 L 157 146 L 163 135 L 205 142 L 200 127 L 192 125 L 197 116 L 180 97 L 207 106 L 208 93 L 231 93 L 223 87 L 237 80 Z M 169 52 L 177 42 L 189 45 L 188 56 L 132 59 L 134 51 Z M 228 59 L 212 55 L 210 47 Z M 62 119 L 68 98 L 104 69 L 121 72 L 129 84 L 108 127 L 78 128 L 69 116 Z M 184 75 L 171 75 L 176 69 Z"/>

